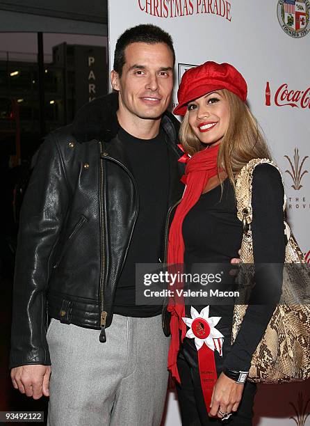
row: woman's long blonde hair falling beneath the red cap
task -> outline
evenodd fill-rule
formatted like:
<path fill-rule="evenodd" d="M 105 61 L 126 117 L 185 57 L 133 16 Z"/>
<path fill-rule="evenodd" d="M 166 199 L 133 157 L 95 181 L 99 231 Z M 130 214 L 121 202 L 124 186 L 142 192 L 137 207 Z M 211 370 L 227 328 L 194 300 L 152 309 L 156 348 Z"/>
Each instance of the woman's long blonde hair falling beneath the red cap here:
<path fill-rule="evenodd" d="M 231 183 L 236 175 L 253 158 L 272 159 L 259 125 L 245 102 L 227 89 L 218 90 L 229 104 L 229 125 L 218 152 L 218 169 L 224 170 Z M 189 111 L 181 123 L 179 132 L 183 148 L 189 155 L 206 148 L 193 133 L 188 123 Z"/>

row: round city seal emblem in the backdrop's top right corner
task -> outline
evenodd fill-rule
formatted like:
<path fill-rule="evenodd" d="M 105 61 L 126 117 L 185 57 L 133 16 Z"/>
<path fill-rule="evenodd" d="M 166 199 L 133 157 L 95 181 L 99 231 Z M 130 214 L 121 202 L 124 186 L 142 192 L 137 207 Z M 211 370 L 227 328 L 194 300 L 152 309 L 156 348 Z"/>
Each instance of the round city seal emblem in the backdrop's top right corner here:
<path fill-rule="evenodd" d="M 279 0 L 277 15 L 279 24 L 288 36 L 301 38 L 310 31 L 309 0 Z"/>

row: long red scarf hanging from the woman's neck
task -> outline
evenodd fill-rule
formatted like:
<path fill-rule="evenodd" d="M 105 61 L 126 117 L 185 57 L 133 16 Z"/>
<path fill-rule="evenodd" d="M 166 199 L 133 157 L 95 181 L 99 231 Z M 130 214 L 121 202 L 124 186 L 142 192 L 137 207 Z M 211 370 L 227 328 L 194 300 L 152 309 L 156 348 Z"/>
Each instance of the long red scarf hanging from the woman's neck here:
<path fill-rule="evenodd" d="M 183 264 L 183 219 L 199 200 L 208 180 L 218 174 L 217 159 L 219 148 L 220 144 L 197 152 L 186 165 L 186 189 L 181 203 L 175 212 L 169 232 L 168 264 Z M 182 317 L 185 317 L 184 303 L 180 303 L 180 299 L 178 301 L 170 299 L 168 311 L 172 314 L 170 321 L 171 343 L 168 355 L 168 369 L 171 370 L 172 377 L 175 377 L 180 382 L 177 370 L 177 354 L 179 353 L 180 345 L 179 330 L 181 330 L 182 342 L 186 335 L 186 324 L 182 321 Z"/>

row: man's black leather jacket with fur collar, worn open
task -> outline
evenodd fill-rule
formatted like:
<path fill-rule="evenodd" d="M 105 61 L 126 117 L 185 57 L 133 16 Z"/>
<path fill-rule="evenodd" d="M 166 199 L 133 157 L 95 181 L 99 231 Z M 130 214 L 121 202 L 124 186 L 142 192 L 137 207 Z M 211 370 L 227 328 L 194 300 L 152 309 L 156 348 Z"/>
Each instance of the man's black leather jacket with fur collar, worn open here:
<path fill-rule="evenodd" d="M 101 329 L 105 341 L 139 211 L 136 182 L 117 138 L 117 109 L 114 93 L 87 104 L 73 125 L 49 134 L 40 148 L 20 218 L 10 368 L 51 363 L 47 313 L 66 324 Z M 183 191 L 179 122 L 165 113 L 161 126 L 173 206 Z M 162 259 L 168 222 L 169 217 Z"/>

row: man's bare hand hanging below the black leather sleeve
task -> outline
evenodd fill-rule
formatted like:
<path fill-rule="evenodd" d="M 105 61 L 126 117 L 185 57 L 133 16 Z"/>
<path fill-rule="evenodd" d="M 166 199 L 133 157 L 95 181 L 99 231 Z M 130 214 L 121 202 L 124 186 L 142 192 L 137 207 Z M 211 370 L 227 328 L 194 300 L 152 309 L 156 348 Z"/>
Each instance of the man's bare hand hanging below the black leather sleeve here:
<path fill-rule="evenodd" d="M 49 365 L 31 364 L 12 368 L 10 377 L 15 389 L 38 400 L 42 395 L 49 396 Z"/>

